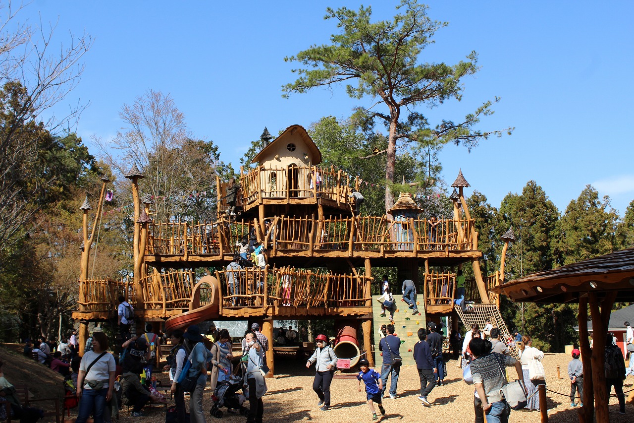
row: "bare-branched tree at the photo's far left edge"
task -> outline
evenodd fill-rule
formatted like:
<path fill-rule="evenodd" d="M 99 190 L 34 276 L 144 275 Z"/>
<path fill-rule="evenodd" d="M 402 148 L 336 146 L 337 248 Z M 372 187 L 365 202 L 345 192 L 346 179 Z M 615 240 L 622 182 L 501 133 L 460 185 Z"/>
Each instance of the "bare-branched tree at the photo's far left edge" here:
<path fill-rule="evenodd" d="M 54 181 L 37 166 L 51 133 L 76 124 L 85 105 L 54 116 L 79 83 L 93 39 L 70 34 L 57 45 L 56 25 L 20 22 L 23 4 L 0 4 L 0 268 L 21 235 L 32 230 L 37 198 Z"/>

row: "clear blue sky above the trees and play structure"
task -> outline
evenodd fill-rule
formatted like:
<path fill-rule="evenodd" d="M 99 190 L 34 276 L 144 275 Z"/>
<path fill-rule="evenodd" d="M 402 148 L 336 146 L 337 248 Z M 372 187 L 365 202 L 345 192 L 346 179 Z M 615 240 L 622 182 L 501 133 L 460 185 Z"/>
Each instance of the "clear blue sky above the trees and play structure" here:
<path fill-rule="evenodd" d="M 378 20 L 393 17 L 397 3 L 364 4 Z M 422 60 L 454 64 L 475 50 L 482 67 L 465 79 L 462 102 L 423 110 L 430 121 L 458 120 L 498 96 L 495 115 L 480 128 L 515 127 L 512 136 L 483 141 L 471 153 L 445 147 L 444 179 L 453 182 L 462 168 L 472 189 L 495 206 L 533 179 L 562 211 L 593 184 L 623 215 L 634 199 L 627 124 L 634 98 L 634 3 L 428 4 L 430 17 L 450 25 L 436 33 Z M 219 145 L 221 159 L 238 168 L 238 158 L 264 126 L 275 135 L 322 116 L 345 118 L 359 104 L 337 86 L 281 97 L 280 87 L 294 81 L 290 69 L 296 67 L 283 58 L 328 43 L 336 32 L 335 22 L 323 20 L 327 6 L 356 9 L 359 3 L 36 0 L 22 17 L 58 20 L 60 39 L 68 30 L 94 36 L 81 83 L 60 105 L 78 98 L 91 103 L 77 127 L 86 144 L 91 135 L 115 134 L 122 105 L 160 90 L 172 95 L 193 134 Z"/>

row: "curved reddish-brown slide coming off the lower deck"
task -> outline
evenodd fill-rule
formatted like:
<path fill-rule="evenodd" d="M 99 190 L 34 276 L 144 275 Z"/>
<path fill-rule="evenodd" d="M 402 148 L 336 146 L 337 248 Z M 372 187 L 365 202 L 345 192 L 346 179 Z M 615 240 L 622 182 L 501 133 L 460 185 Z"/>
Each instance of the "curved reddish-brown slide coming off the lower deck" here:
<path fill-rule="evenodd" d="M 200 307 L 200 289 L 203 285 L 211 286 L 211 299 L 209 304 Z M 174 329 L 186 330 L 187 326 L 196 325 L 205 320 L 217 319 L 220 317 L 220 284 L 214 276 L 203 276 L 200 282 L 194 286 L 191 294 L 190 311 L 186 311 L 178 316 L 172 316 L 165 321 L 165 332 L 172 332 Z"/>

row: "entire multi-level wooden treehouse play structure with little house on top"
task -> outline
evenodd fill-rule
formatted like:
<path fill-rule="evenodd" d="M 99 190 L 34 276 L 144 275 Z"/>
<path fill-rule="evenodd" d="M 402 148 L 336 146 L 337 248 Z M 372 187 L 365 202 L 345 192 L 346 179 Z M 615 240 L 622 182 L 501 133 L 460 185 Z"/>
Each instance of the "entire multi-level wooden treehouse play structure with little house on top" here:
<path fill-rule="evenodd" d="M 302 126 L 289 126 L 269 142 L 271 138 L 265 130 L 262 150 L 254 158 L 257 166 L 240 172 L 236 216 L 225 213 L 227 183 L 217 180 L 215 222 L 153 221 L 153 199 L 141 198 L 138 180 L 143 175 L 133 166 L 126 178 L 134 198 L 134 275 L 124 281 L 87 278 L 94 224 L 89 236 L 91 208 L 84 202 L 79 309 L 73 314 L 81 321 L 81 346 L 87 322 L 113 318 L 117 297 L 124 295 L 134 304 L 139 323 L 165 321 L 165 330 L 205 320 L 246 319 L 261 323 L 262 333 L 273 339 L 273 319 L 335 318 L 337 355 L 352 358 L 354 365 L 366 351 L 373 364 L 373 319 L 376 342 L 380 324 L 389 323 L 387 318 L 381 321 L 375 309 L 373 267 L 398 267 L 394 285 L 404 279 L 416 284 L 418 303 L 424 305 L 419 307 L 421 315 L 405 321 L 404 313 L 410 310 L 401 306 L 394 316 L 395 325 L 407 333 L 415 333 L 427 320 L 458 317 L 454 270 L 463 264 L 472 264 L 475 274 L 467 284 L 467 297 L 488 307 L 487 316 L 495 314 L 498 297 L 491 288 L 500 283 L 503 269 L 482 277 L 482 252 L 463 196 L 469 184 L 462 171 L 452 185 L 450 218 L 420 215 L 410 194 L 401 194 L 383 216 L 354 216 L 349 194 L 353 187 L 360 188 L 358 178 L 320 166 L 321 153 Z M 103 180 L 97 215 L 107 183 Z M 253 237 L 268 251 L 266 267 L 227 271 L 238 253 L 236 244 Z M 512 234 L 507 238 L 503 256 Z M 210 267 L 220 270 L 196 277 L 195 269 Z M 395 297 L 398 300 L 398 293 Z M 460 314 L 465 323 L 484 323 L 484 314 Z M 453 321 L 457 325 L 457 319 Z M 273 369 L 273 354 L 267 358 Z"/>

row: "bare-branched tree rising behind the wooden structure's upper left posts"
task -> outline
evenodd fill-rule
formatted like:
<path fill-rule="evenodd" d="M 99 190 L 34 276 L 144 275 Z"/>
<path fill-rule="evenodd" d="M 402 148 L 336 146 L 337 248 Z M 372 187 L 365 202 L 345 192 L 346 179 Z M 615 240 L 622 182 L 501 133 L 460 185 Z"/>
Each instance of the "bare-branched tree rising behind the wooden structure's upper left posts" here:
<path fill-rule="evenodd" d="M 193 138 L 174 99 L 148 90 L 134 104 L 125 104 L 119 117 L 125 126 L 113 140 L 94 137 L 94 142 L 119 175 L 125 175 L 133 164 L 139 167 L 145 175 L 139 181 L 141 194 L 158 198 L 155 218 L 212 217 L 216 172 L 224 164 L 212 142 Z M 127 180 L 117 180 L 120 191 L 129 194 Z M 196 195 L 202 192 L 207 195 Z"/>

